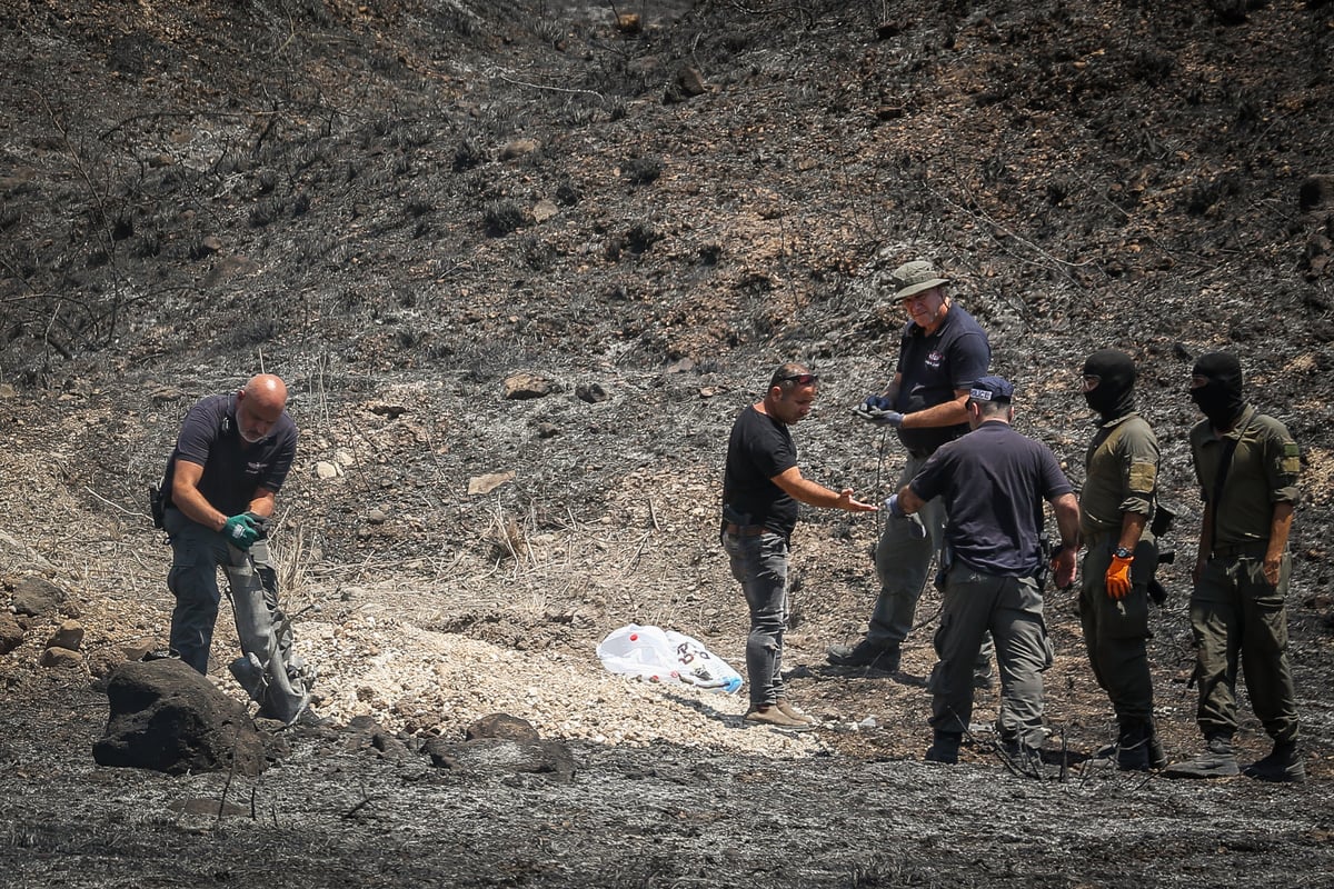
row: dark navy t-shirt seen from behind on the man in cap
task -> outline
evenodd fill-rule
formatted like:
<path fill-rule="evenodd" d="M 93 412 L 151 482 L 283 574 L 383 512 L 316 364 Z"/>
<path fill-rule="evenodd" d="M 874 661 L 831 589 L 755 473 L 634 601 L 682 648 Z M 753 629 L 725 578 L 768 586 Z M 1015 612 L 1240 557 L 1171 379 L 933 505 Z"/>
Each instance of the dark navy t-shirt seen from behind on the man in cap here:
<path fill-rule="evenodd" d="M 1051 448 L 1000 421 L 940 445 L 908 485 L 923 500 L 944 498 L 955 558 L 1002 577 L 1038 570 L 1042 501 L 1074 492 Z"/>

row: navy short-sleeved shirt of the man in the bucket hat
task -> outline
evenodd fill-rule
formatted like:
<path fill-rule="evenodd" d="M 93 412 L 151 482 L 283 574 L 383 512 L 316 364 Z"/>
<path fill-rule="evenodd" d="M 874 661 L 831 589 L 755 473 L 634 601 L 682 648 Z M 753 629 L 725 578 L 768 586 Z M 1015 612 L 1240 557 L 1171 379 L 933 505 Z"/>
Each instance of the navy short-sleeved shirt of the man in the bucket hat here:
<path fill-rule="evenodd" d="M 950 304 L 935 333 L 927 336 L 915 321 L 903 328 L 899 363 L 895 373 L 903 375 L 899 397 L 894 405 L 902 413 L 914 413 L 952 401 L 955 392 L 968 389 L 987 375 L 991 345 L 987 335 L 958 303 Z M 968 424 L 926 429 L 899 429 L 899 441 L 914 454 L 928 454 L 946 441 L 968 432 Z"/>

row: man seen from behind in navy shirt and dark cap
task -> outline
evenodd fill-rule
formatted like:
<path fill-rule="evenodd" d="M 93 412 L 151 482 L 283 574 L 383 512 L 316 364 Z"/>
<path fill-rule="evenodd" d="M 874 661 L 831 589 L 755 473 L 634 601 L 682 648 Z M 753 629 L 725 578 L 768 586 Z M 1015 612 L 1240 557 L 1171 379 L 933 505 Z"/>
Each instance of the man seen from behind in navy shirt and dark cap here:
<path fill-rule="evenodd" d="M 950 512 L 946 542 L 952 561 L 934 640 L 939 662 L 930 684 L 928 762 L 958 761 L 972 717 L 972 669 L 987 632 L 1000 666 L 996 728 L 1006 752 L 1035 768 L 1046 738 L 1042 672 L 1053 652 L 1037 580 L 1045 569 L 1042 504 L 1051 504 L 1061 529 L 1057 586 L 1074 582 L 1079 504 L 1051 449 L 1010 427 L 1013 399 L 1007 380 L 976 380 L 964 405 L 974 432 L 936 449 L 884 504 L 900 518 L 934 500 Z"/>

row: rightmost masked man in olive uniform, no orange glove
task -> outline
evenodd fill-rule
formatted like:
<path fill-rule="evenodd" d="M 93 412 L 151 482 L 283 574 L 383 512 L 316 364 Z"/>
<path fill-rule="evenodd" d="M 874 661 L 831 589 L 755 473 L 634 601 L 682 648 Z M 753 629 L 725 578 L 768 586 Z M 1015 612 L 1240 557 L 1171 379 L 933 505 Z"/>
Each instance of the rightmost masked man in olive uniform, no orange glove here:
<path fill-rule="evenodd" d="M 1287 537 L 1301 454 L 1287 428 L 1242 397 L 1237 356 L 1210 352 L 1195 363 L 1190 397 L 1205 419 L 1190 450 L 1205 501 L 1190 625 L 1195 637 L 1195 721 L 1205 752 L 1167 768 L 1169 777 L 1237 774 L 1237 668 L 1273 752 L 1246 766 L 1265 781 L 1306 780 L 1297 700 L 1287 662 Z"/>

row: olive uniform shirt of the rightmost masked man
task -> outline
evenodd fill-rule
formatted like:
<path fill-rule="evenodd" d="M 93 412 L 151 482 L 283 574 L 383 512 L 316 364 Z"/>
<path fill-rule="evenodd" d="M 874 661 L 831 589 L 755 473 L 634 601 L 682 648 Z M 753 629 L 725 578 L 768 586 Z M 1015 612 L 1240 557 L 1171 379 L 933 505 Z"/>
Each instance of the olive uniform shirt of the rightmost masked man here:
<path fill-rule="evenodd" d="M 1237 441 L 1227 465 L 1227 477 L 1218 497 L 1218 466 L 1223 445 Z M 1287 427 L 1254 407 L 1246 405 L 1237 425 L 1219 435 L 1209 420 L 1190 431 L 1190 452 L 1195 460 L 1195 480 L 1201 496 L 1214 509 L 1213 545 L 1255 544 L 1269 540 L 1274 504 L 1295 504 L 1301 450 Z"/>

